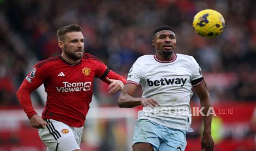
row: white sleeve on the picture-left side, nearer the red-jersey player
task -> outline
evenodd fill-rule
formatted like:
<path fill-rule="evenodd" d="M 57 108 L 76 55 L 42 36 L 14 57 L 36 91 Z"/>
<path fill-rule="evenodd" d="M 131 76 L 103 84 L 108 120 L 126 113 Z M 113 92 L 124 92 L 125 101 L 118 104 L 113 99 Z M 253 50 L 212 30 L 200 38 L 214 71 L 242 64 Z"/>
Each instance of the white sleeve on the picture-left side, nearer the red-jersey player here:
<path fill-rule="evenodd" d="M 139 85 L 141 79 L 141 65 L 139 59 L 134 62 L 133 66 L 130 68 L 130 71 L 127 75 L 127 83 L 133 83 Z"/>

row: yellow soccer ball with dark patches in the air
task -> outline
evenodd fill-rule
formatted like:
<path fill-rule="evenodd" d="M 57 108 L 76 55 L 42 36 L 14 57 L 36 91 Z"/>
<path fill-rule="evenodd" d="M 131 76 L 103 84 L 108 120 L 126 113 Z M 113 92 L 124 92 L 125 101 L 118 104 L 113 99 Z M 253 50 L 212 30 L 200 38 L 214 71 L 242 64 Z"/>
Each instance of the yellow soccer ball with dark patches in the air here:
<path fill-rule="evenodd" d="M 213 38 L 223 32 L 225 20 L 218 11 L 205 9 L 194 16 L 193 27 L 200 36 Z"/>

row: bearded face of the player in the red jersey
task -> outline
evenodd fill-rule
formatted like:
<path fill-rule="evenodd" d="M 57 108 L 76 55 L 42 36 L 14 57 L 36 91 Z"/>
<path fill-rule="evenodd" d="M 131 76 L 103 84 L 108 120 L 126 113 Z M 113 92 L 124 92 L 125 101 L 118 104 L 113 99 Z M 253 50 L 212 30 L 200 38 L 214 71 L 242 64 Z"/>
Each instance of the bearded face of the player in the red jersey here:
<path fill-rule="evenodd" d="M 63 40 L 63 53 L 72 60 L 84 55 L 84 36 L 81 32 L 68 32 Z"/>

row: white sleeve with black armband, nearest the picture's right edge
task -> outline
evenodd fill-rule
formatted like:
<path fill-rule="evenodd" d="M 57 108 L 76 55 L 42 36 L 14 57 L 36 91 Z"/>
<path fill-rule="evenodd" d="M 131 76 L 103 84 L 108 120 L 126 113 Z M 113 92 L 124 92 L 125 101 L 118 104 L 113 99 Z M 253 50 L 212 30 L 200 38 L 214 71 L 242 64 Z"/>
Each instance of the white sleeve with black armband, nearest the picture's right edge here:
<path fill-rule="evenodd" d="M 201 73 L 201 68 L 198 65 L 197 61 L 195 61 L 194 57 L 192 57 L 192 75 L 190 77 L 190 81 L 193 86 L 199 85 L 203 82 L 203 74 Z"/>

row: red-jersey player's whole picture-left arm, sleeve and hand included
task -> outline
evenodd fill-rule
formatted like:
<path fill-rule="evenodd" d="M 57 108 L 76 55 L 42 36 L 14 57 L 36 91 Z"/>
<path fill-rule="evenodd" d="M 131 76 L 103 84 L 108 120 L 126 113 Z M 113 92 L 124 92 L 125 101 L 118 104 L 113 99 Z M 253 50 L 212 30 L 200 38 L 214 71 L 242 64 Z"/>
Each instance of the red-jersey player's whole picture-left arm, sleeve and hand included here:
<path fill-rule="evenodd" d="M 40 63 L 40 62 L 39 62 Z M 45 77 L 37 66 L 31 71 L 30 74 L 23 80 L 17 91 L 17 98 L 23 108 L 24 112 L 30 119 L 30 125 L 37 129 L 44 128 L 47 123 L 37 115 L 34 107 L 32 106 L 30 94 L 36 90 L 42 83 Z"/>

